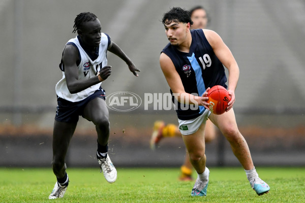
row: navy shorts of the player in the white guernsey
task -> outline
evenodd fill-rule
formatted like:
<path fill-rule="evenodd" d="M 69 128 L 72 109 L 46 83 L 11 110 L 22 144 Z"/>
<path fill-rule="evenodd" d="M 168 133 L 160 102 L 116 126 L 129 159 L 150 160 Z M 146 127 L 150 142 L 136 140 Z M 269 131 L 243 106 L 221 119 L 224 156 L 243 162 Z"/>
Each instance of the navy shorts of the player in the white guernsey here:
<path fill-rule="evenodd" d="M 96 97 L 100 97 L 105 100 L 105 91 L 103 89 L 99 89 L 87 98 L 77 102 L 68 101 L 57 96 L 58 106 L 55 120 L 61 122 L 77 122 L 79 116 L 83 115 L 84 108 L 88 102 Z"/>

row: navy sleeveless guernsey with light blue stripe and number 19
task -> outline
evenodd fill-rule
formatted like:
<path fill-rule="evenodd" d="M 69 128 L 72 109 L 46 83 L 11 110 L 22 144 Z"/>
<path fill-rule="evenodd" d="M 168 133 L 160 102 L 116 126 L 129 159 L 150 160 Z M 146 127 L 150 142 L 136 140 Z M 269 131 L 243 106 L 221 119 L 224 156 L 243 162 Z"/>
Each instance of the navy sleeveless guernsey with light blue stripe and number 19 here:
<path fill-rule="evenodd" d="M 227 88 L 224 66 L 206 40 L 203 30 L 191 30 L 191 36 L 189 53 L 178 51 L 170 43 L 162 50 L 172 60 L 185 91 L 201 96 L 208 87 L 221 85 Z M 171 90 L 170 92 L 172 94 Z M 196 118 L 205 110 L 203 106 L 191 108 L 189 105 L 180 104 L 173 95 L 172 101 L 176 104 L 175 108 L 180 120 Z"/>

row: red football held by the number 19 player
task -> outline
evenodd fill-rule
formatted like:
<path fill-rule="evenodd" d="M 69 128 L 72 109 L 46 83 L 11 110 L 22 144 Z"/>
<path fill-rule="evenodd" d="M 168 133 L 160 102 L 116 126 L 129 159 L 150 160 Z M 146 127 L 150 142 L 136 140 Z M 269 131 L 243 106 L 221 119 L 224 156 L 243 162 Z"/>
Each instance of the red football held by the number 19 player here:
<path fill-rule="evenodd" d="M 231 97 L 223 86 L 215 85 L 210 88 L 207 93 L 207 103 L 209 104 L 209 110 L 217 115 L 223 114 L 228 107 L 228 103 Z"/>

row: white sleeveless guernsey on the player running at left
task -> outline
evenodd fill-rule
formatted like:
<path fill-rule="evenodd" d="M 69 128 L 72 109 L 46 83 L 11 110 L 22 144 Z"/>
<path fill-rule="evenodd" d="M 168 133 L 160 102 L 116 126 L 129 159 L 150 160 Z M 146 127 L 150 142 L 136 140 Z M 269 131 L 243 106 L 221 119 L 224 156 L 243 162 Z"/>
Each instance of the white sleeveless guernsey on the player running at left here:
<path fill-rule="evenodd" d="M 110 43 L 110 38 L 105 33 L 102 33 L 102 38 L 99 46 L 99 56 L 96 60 L 92 60 L 87 53 L 80 46 L 78 38 L 74 38 L 68 41 L 67 44 L 74 44 L 78 48 L 80 63 L 78 67 L 78 80 L 88 80 L 89 78 L 96 77 L 97 73 L 100 72 L 101 68 L 107 65 L 107 48 Z M 67 45 L 66 44 L 66 45 Z M 85 90 L 71 94 L 66 82 L 64 64 L 61 63 L 62 67 L 60 69 L 63 71 L 63 78 L 56 84 L 55 90 L 57 96 L 66 99 L 68 101 L 76 102 L 85 99 L 89 95 L 93 94 L 101 86 L 101 83 L 88 87 Z"/>

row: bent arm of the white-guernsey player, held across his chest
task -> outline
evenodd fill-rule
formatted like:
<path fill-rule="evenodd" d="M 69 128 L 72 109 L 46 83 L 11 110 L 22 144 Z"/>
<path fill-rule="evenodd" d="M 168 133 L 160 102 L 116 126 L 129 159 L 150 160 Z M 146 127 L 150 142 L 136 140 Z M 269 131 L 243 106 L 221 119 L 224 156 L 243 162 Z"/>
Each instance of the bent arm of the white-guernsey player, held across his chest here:
<path fill-rule="evenodd" d="M 106 67 L 103 70 L 103 74 L 100 74 L 101 81 L 99 76 L 90 78 L 88 80 L 79 81 L 78 80 L 78 68 L 76 61 L 78 60 L 78 50 L 73 45 L 67 45 L 64 54 L 63 54 L 63 63 L 65 65 L 65 77 L 67 82 L 67 87 L 71 94 L 80 92 L 88 87 L 96 85 L 110 75 L 111 70 L 110 66 Z M 110 72 L 110 73 L 109 73 Z"/>

